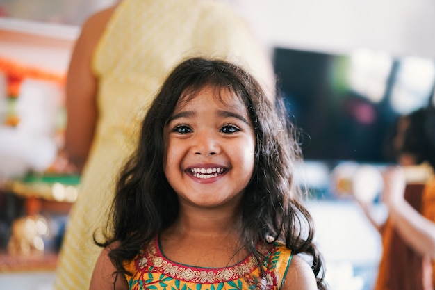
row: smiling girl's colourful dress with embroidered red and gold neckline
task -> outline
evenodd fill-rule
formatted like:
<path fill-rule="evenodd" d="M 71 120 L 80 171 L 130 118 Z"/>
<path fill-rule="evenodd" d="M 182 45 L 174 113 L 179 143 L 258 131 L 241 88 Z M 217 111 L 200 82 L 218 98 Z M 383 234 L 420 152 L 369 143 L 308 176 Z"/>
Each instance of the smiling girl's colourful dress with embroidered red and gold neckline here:
<path fill-rule="evenodd" d="M 199 268 L 177 264 L 161 252 L 158 239 L 152 241 L 133 261 L 125 266 L 133 276 L 125 275 L 129 289 L 142 290 L 220 290 L 281 289 L 291 261 L 291 251 L 282 243 L 260 245 L 265 255 L 265 281 L 260 281 L 260 268 L 253 255 L 226 268 Z M 262 285 L 262 287 L 259 287 Z"/>

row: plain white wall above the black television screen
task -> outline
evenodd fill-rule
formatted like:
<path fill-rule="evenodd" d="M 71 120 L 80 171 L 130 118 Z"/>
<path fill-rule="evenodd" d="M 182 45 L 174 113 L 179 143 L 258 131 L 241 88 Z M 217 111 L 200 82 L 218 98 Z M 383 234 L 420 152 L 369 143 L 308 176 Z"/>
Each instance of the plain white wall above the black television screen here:
<path fill-rule="evenodd" d="M 230 1 L 230 0 L 228 0 Z M 434 0 L 231 0 L 268 47 L 435 58 Z"/>

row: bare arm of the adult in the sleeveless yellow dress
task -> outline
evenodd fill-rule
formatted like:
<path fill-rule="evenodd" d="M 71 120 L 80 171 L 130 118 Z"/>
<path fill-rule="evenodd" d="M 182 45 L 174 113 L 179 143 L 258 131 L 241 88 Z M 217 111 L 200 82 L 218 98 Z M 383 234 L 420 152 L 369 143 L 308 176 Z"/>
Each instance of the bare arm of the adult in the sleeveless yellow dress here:
<path fill-rule="evenodd" d="M 92 54 L 115 6 L 92 15 L 81 30 L 67 72 L 67 127 L 65 150 L 80 171 L 83 169 L 98 118 L 97 78 L 92 73 Z"/>

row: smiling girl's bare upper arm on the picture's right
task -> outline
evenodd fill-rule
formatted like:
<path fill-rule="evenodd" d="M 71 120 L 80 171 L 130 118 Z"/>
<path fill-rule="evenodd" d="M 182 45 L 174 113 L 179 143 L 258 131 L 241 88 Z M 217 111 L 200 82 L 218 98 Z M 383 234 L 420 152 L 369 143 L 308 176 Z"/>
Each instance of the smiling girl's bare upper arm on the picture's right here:
<path fill-rule="evenodd" d="M 317 282 L 311 266 L 298 255 L 290 262 L 281 290 L 317 290 Z"/>

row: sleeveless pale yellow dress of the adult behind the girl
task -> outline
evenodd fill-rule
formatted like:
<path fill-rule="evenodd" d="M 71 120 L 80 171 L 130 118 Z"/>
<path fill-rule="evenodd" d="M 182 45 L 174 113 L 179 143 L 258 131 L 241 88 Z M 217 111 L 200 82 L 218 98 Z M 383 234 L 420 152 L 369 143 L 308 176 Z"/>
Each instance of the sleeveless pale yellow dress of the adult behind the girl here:
<path fill-rule="evenodd" d="M 140 122 L 165 76 L 190 56 L 226 58 L 264 86 L 272 73 L 249 26 L 224 3 L 125 0 L 112 15 L 92 60 L 99 78 L 99 120 L 54 289 L 88 289 L 101 252 L 92 234 L 107 223 L 117 172 L 136 147 Z"/>

